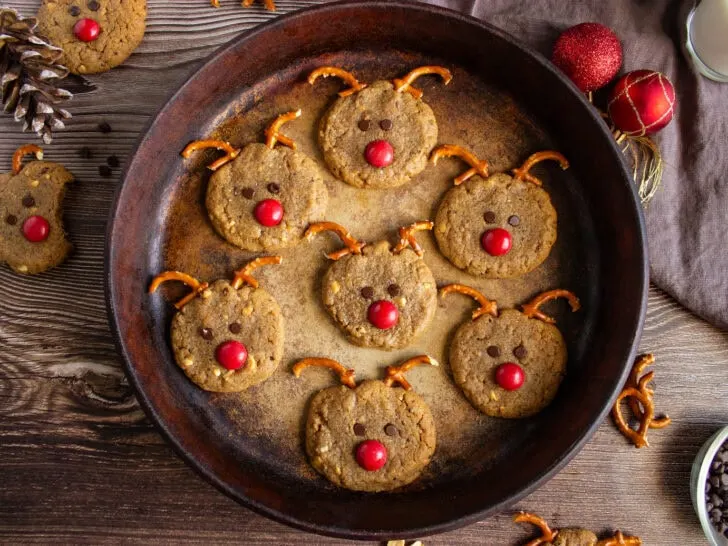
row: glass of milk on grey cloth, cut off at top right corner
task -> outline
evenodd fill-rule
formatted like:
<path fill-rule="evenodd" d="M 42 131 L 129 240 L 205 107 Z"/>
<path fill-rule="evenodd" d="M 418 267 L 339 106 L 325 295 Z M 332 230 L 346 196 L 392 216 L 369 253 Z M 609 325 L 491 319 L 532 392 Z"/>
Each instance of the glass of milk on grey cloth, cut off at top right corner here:
<path fill-rule="evenodd" d="M 687 19 L 685 47 L 698 71 L 728 82 L 728 0 L 699 0 Z"/>

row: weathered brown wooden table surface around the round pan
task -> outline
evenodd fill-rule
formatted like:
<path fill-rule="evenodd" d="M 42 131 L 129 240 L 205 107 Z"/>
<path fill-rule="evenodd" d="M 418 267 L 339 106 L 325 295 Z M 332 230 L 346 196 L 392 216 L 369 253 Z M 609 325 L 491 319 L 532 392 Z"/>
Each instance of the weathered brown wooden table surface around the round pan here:
<path fill-rule="evenodd" d="M 315 1 L 278 2 L 280 12 Z M 222 0 L 150 0 L 147 34 L 125 65 L 93 76 L 68 130 L 47 158 L 77 177 L 66 201 L 75 243 L 68 262 L 24 277 L 0 266 L 0 541 L 39 543 L 202 542 L 335 544 L 269 521 L 202 481 L 167 446 L 136 402 L 106 318 L 103 253 L 108 208 L 119 182 L 99 176 L 114 154 L 122 168 L 140 131 L 202 59 L 272 14 Z M 33 14 L 39 0 L 12 0 Z M 107 121 L 112 132 L 97 125 Z M 0 117 L 0 172 L 14 149 L 37 142 Z M 88 146 L 92 159 L 78 150 Z M 621 528 L 645 544 L 705 544 L 690 503 L 690 467 L 700 445 L 728 423 L 728 334 L 650 292 L 643 351 L 658 357 L 658 411 L 674 424 L 637 450 L 605 422 L 555 478 L 514 509 L 554 526 Z M 425 540 L 522 544 L 532 529 L 511 513 Z"/>

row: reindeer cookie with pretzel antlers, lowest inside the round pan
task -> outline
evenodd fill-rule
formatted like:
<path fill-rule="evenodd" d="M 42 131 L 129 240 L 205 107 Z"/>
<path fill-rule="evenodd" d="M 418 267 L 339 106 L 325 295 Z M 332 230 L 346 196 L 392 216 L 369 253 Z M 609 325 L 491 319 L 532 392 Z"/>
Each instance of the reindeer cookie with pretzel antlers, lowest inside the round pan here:
<path fill-rule="evenodd" d="M 418 364 L 437 366 L 422 355 L 387 367 L 382 381 L 357 386 L 354 370 L 334 360 L 307 358 L 296 363 L 296 377 L 308 366 L 323 366 L 336 371 L 343 383 L 313 397 L 306 421 L 306 453 L 326 479 L 339 487 L 371 492 L 389 491 L 417 479 L 436 445 L 430 409 L 404 379 L 404 372 Z"/>

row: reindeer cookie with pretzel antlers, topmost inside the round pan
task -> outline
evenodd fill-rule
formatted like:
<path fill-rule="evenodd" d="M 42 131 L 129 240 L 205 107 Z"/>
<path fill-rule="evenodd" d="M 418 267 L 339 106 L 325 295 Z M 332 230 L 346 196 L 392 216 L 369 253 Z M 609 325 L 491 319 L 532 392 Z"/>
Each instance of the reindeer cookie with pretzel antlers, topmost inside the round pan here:
<path fill-rule="evenodd" d="M 336 76 L 350 87 L 324 114 L 319 145 L 329 169 L 357 188 L 395 188 L 427 166 L 437 143 L 437 121 L 411 83 L 424 74 L 438 74 L 450 83 L 450 71 L 423 66 L 393 81 L 360 83 L 340 68 L 324 66 L 308 77 Z"/>

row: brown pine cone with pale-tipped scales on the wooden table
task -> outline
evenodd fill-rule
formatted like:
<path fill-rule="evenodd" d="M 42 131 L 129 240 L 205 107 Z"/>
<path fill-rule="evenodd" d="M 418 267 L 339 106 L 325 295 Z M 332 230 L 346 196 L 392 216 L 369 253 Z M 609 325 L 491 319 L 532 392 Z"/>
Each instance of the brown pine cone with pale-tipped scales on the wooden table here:
<path fill-rule="evenodd" d="M 63 50 L 36 34 L 37 24 L 34 17 L 0 8 L 0 88 L 5 111 L 25 122 L 23 131 L 32 129 L 50 144 L 53 129 L 63 129 L 71 117 L 58 104 L 73 95 L 58 87 L 68 75 L 57 63 Z"/>

